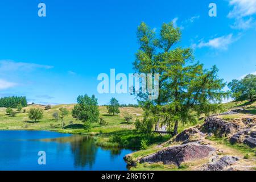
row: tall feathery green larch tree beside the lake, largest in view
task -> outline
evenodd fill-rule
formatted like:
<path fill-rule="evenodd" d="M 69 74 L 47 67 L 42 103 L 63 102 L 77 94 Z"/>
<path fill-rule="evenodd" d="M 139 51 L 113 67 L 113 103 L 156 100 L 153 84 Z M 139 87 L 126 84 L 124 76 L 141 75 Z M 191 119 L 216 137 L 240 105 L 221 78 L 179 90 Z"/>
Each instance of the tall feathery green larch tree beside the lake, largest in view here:
<path fill-rule="evenodd" d="M 218 109 L 218 103 L 226 96 L 222 91 L 225 83 L 218 78 L 215 66 L 204 69 L 203 64 L 193 63 L 190 48 L 176 46 L 181 39 L 178 27 L 172 22 L 163 23 L 160 35 L 156 36 L 154 30 L 141 23 L 137 38 L 140 47 L 133 64 L 135 72 L 159 73 L 156 100 L 149 100 L 147 93 L 137 94 L 145 110 L 141 126 L 147 133 L 152 125 L 165 125 L 176 135 L 179 122 L 195 122 L 192 111 L 200 115 Z"/>

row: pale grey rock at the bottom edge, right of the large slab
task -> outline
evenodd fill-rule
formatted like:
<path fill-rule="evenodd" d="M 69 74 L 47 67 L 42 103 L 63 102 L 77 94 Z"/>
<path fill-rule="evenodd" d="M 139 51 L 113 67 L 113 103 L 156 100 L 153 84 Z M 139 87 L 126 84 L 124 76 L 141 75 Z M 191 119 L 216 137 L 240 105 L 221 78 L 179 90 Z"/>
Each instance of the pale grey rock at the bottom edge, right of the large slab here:
<path fill-rule="evenodd" d="M 213 160 L 208 164 L 205 164 L 202 169 L 203 171 L 222 171 L 226 167 L 231 166 L 232 164 L 236 163 L 239 159 L 234 156 L 224 156 L 219 160 Z M 229 168 L 230 169 L 230 168 Z"/>

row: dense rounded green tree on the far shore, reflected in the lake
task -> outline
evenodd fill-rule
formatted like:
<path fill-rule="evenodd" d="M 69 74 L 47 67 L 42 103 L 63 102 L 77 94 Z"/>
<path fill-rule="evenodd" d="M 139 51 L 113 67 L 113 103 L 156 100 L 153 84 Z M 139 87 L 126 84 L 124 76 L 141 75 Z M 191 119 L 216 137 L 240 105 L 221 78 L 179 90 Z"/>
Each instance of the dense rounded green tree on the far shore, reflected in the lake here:
<path fill-rule="evenodd" d="M 85 96 L 77 97 L 77 105 L 72 110 L 73 118 L 92 123 L 98 122 L 99 115 L 98 102 L 94 95 L 89 97 L 85 94 Z"/>

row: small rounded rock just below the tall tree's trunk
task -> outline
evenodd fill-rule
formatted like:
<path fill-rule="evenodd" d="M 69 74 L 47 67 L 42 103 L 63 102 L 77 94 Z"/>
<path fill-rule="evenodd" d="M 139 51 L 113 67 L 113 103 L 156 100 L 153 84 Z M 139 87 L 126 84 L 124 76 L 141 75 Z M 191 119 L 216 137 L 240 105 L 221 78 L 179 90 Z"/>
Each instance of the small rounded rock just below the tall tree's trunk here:
<path fill-rule="evenodd" d="M 175 142 L 183 142 L 183 144 L 188 142 L 195 142 L 200 139 L 200 137 L 204 137 L 204 134 L 201 133 L 199 129 L 190 128 L 182 131 L 175 138 Z"/>

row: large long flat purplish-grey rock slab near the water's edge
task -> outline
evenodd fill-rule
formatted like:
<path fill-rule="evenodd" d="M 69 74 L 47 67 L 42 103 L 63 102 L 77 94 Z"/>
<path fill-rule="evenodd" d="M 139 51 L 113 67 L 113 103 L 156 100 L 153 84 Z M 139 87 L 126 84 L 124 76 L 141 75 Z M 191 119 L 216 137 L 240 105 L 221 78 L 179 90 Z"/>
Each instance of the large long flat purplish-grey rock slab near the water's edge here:
<path fill-rule="evenodd" d="M 179 146 L 172 146 L 164 148 L 155 154 L 148 155 L 141 160 L 140 163 L 158 163 L 175 164 L 180 166 L 181 163 L 194 160 L 203 159 L 210 155 L 210 152 L 215 151 L 213 147 L 202 145 L 197 142 L 182 144 Z"/>

